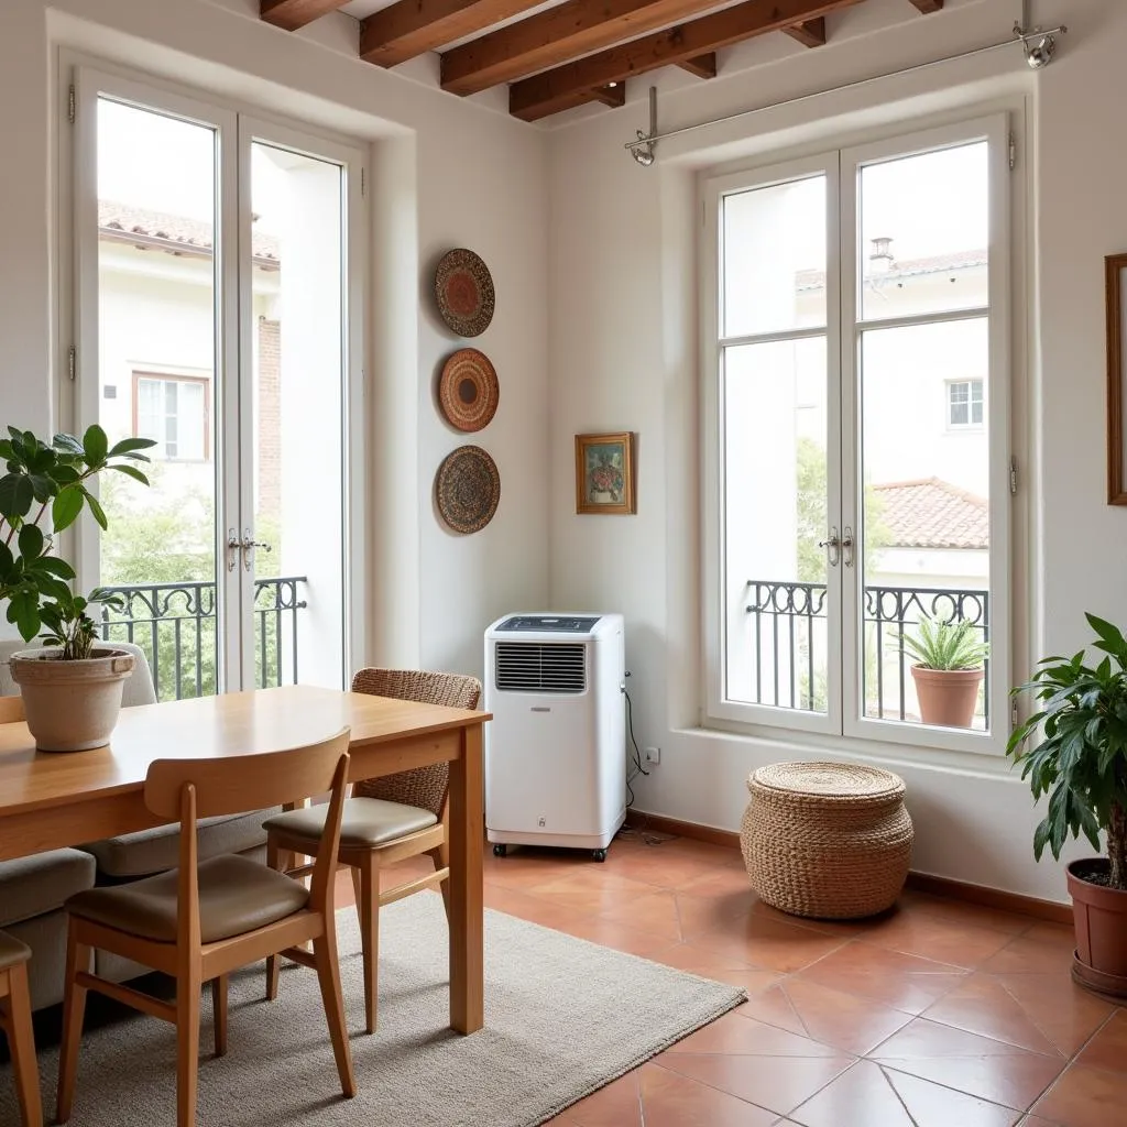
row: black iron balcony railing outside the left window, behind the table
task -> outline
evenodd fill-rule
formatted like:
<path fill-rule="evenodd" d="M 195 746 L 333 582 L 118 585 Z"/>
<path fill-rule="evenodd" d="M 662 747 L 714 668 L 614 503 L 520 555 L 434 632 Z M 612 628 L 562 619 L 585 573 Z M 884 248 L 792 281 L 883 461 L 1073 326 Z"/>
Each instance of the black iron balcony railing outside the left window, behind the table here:
<path fill-rule="evenodd" d="M 255 580 L 255 674 L 259 689 L 298 682 L 298 612 L 304 576 Z M 124 601 L 103 609 L 101 637 L 131 641 L 149 658 L 157 699 L 218 691 L 215 584 L 134 584 L 107 587 Z"/>

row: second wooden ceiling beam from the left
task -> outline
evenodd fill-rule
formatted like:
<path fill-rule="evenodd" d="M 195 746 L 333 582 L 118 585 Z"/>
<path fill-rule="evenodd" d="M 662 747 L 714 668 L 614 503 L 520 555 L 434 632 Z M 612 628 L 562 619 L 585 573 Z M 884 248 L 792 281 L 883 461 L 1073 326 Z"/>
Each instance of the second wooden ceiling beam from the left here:
<path fill-rule="evenodd" d="M 540 0 L 399 0 L 361 20 L 360 56 L 394 66 L 492 24 L 535 8 Z"/>

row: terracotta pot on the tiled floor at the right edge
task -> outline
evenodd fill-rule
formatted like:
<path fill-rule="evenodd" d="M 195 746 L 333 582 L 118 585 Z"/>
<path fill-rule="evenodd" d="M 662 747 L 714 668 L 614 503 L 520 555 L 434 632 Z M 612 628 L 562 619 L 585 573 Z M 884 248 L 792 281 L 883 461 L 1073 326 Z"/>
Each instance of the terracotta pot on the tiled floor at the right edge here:
<path fill-rule="evenodd" d="M 1068 893 L 1076 926 L 1072 976 L 1102 994 L 1127 997 L 1127 891 L 1085 877 L 1106 875 L 1107 858 L 1088 858 L 1068 866 Z"/>

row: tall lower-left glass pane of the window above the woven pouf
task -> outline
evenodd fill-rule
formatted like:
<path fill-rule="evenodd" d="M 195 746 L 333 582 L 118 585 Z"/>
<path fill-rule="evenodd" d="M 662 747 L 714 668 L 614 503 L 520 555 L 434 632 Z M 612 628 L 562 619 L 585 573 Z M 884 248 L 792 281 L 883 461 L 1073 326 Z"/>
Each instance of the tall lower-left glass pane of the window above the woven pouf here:
<path fill-rule="evenodd" d="M 726 696 L 826 712 L 826 341 L 726 349 Z"/>

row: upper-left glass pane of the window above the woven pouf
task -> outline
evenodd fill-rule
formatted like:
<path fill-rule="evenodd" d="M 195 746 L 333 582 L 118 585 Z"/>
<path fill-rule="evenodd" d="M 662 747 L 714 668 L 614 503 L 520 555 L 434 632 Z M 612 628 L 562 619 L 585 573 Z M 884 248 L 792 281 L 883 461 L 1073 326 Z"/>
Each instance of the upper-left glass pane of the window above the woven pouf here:
<path fill-rule="evenodd" d="M 721 336 L 826 323 L 826 178 L 725 196 Z"/>

